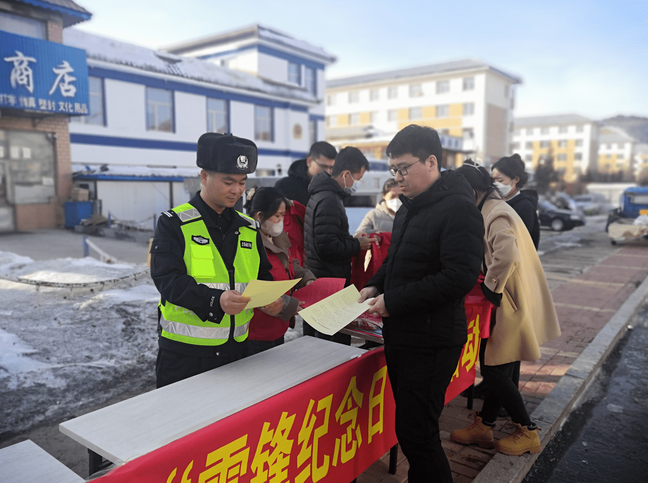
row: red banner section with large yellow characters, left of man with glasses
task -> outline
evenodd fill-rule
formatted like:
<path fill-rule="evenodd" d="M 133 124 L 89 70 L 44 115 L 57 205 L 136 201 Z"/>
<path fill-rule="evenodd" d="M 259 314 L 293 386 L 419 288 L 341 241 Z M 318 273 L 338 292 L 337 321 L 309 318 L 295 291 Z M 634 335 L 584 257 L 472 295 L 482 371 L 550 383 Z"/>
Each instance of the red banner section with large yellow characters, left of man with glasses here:
<path fill-rule="evenodd" d="M 161 410 L 160 423 L 173 418 L 174 411 L 199 405 Z M 396 444 L 394 417 L 380 348 L 127 462 L 97 481 L 349 482 Z"/>

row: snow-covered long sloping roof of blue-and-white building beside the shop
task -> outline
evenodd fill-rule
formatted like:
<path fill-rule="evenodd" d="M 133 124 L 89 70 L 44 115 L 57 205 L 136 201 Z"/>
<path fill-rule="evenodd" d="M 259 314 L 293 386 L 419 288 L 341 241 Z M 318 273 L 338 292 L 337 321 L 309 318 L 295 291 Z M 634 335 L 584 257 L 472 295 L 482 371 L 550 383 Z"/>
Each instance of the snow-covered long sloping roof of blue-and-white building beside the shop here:
<path fill-rule="evenodd" d="M 272 84 L 252 74 L 220 67 L 220 65 L 211 62 L 154 51 L 132 43 L 89 34 L 77 28 L 66 28 L 63 31 L 63 43 L 70 47 L 84 49 L 89 64 L 92 64 L 93 60 L 108 62 L 134 67 L 150 73 L 206 82 L 213 84 L 214 87 L 244 89 L 290 100 L 318 102 L 314 95 L 302 87 Z"/>

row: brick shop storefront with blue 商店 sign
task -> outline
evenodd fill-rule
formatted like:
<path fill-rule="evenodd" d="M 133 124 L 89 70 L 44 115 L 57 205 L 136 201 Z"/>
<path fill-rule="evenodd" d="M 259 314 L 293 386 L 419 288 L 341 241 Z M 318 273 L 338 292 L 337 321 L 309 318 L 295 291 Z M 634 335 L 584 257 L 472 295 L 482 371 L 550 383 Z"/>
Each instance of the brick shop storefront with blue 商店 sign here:
<path fill-rule="evenodd" d="M 80 19 L 8 6 L 0 8 L 0 232 L 56 227 L 71 187 L 68 120 L 89 113 L 86 52 L 60 43 L 62 28 Z"/>

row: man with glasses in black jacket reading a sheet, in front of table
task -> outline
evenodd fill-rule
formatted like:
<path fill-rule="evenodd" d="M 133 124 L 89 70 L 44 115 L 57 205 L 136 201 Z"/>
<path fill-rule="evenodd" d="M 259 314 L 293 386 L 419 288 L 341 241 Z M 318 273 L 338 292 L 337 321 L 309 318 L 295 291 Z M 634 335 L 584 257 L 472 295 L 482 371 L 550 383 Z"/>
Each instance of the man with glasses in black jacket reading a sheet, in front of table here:
<path fill-rule="evenodd" d="M 410 125 L 389 143 L 391 172 L 403 190 L 388 257 L 360 300 L 383 317 L 396 434 L 408 481 L 452 482 L 441 447 L 445 391 L 467 340 L 464 296 L 483 258 L 483 219 L 472 188 L 454 172 L 439 172 L 437 131 Z"/>

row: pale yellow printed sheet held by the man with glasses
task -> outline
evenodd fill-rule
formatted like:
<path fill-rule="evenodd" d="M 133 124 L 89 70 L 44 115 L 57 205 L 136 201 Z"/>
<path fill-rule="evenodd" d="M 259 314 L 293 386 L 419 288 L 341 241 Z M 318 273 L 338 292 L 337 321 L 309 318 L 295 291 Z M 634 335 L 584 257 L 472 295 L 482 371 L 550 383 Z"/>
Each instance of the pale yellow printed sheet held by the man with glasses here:
<path fill-rule="evenodd" d="M 350 285 L 310 307 L 301 309 L 299 315 L 315 330 L 333 335 L 369 309 L 369 301 L 373 299 L 369 298 L 358 304 L 358 298 L 358 289 Z"/>

